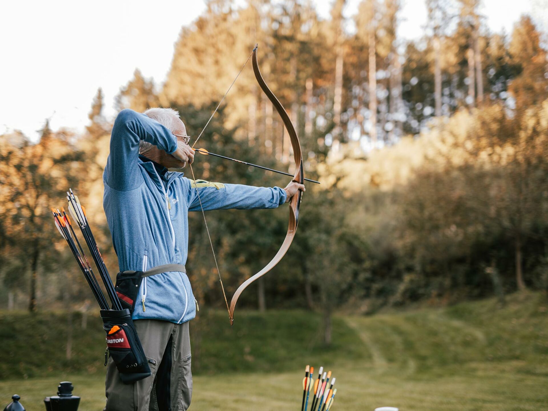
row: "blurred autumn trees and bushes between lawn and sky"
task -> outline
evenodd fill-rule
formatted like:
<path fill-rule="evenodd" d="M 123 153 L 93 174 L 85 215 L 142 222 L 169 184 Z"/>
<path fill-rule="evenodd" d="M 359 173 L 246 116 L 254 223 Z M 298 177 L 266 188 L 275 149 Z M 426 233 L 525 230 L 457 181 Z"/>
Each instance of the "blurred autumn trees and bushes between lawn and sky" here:
<path fill-rule="evenodd" d="M 516 289 L 548 289 L 548 72 L 530 16 L 492 33 L 478 0 L 427 0 L 418 41 L 396 35 L 398 0 L 345 1 L 319 19 L 309 1 L 209 1 L 182 27 L 163 84 L 139 70 L 116 106 L 172 106 L 197 136 L 256 42 L 259 64 L 298 130 L 307 185 L 299 232 L 284 260 L 242 296 L 250 307 L 372 312 Z M 144 51 L 146 52 L 146 50 Z M 76 269 L 49 218 L 69 186 L 81 194 L 107 264 L 117 271 L 102 212 L 111 124 L 92 103 L 82 135 L 44 126 L 31 143 L 0 137 L 0 300 L 45 307 Z M 293 172 L 289 137 L 249 66 L 200 146 Z M 197 156 L 197 178 L 284 186 L 271 173 Z M 212 212 L 208 222 L 231 294 L 275 254 L 287 209 Z M 199 302 L 222 307 L 201 216 L 190 227 L 189 272 Z M 74 304 L 86 298 L 73 291 Z"/>

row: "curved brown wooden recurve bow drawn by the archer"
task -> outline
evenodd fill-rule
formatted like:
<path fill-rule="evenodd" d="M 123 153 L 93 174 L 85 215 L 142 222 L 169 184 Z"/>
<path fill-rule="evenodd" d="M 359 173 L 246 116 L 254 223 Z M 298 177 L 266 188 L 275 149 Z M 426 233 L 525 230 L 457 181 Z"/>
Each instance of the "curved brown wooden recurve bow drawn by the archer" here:
<path fill-rule="evenodd" d="M 283 124 L 286 127 L 286 130 L 289 134 L 291 145 L 293 147 L 293 158 L 295 161 L 295 174 L 293 176 L 293 181 L 303 184 L 304 171 L 302 167 L 302 152 L 301 152 L 299 137 L 297 136 L 295 128 L 293 127 L 293 123 L 291 122 L 291 119 L 289 118 L 286 112 L 286 109 L 283 108 L 282 103 L 279 102 L 279 100 L 274 95 L 274 93 L 272 93 L 268 85 L 266 85 L 264 78 L 262 78 L 261 71 L 259 70 L 259 64 L 257 62 L 257 46 L 256 45 L 255 45 L 255 48 L 253 49 L 252 63 L 253 63 L 253 72 L 255 73 L 255 78 L 257 79 L 259 86 L 261 87 L 262 91 L 265 93 L 267 98 L 272 102 L 272 105 L 276 108 L 276 111 L 278 112 L 279 116 L 282 118 Z M 249 277 L 245 282 L 243 282 L 241 286 L 238 287 L 234 295 L 232 296 L 232 300 L 230 301 L 230 308 L 229 308 L 229 317 L 230 317 L 231 325 L 234 322 L 234 310 L 236 309 L 236 302 L 238 301 L 238 298 L 242 294 L 243 290 L 245 290 L 249 286 L 249 284 L 253 283 L 256 279 L 264 276 L 267 272 L 272 270 L 276 266 L 276 264 L 278 264 L 278 262 L 283 258 L 283 256 L 286 255 L 287 250 L 289 249 L 289 246 L 291 245 L 291 243 L 293 242 L 293 238 L 295 237 L 297 225 L 299 224 L 299 208 L 301 204 L 301 198 L 302 198 L 302 192 L 299 191 L 298 194 L 293 196 L 293 198 L 289 202 L 289 225 L 287 227 L 286 238 L 284 239 L 282 246 L 279 248 L 274 258 L 272 258 L 269 264 L 267 264 L 262 270 L 260 270 L 254 276 Z"/>

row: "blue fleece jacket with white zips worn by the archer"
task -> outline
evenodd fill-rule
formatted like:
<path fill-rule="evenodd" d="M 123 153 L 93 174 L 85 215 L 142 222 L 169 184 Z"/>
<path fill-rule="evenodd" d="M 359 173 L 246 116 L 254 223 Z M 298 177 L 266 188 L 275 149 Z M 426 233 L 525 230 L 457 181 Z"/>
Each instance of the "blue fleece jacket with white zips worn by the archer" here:
<path fill-rule="evenodd" d="M 187 179 L 139 156 L 144 140 L 173 153 L 175 136 L 157 121 L 133 110 L 116 117 L 103 182 L 103 207 L 120 271 L 151 269 L 163 264 L 186 264 L 189 211 L 276 208 L 286 201 L 279 187 L 252 187 Z M 187 275 L 166 272 L 141 284 L 134 319 L 163 319 L 173 323 L 196 316 L 196 300 Z"/>

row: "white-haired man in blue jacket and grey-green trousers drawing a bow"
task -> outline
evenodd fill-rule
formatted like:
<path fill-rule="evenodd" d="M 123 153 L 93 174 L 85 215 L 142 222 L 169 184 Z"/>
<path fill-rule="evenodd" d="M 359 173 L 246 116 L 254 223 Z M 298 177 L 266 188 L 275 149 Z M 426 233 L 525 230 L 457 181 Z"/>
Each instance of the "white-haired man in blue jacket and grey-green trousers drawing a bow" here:
<path fill-rule="evenodd" d="M 252 187 L 193 181 L 169 172 L 192 163 L 189 140 L 175 110 L 149 109 L 141 114 L 126 109 L 118 114 L 103 174 L 103 206 L 120 271 L 185 264 L 188 212 L 201 211 L 201 205 L 204 210 L 276 208 L 305 190 L 296 182 L 285 189 Z M 196 300 L 186 273 L 143 278 L 133 319 L 152 374 L 125 385 L 109 359 L 107 411 L 189 407 L 189 321 L 195 315 Z"/>

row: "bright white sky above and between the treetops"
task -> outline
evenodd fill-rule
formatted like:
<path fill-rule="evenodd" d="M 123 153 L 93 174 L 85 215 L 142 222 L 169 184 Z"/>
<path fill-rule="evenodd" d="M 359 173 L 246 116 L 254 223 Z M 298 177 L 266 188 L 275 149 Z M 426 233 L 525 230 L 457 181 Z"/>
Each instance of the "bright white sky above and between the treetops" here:
<path fill-rule="evenodd" d="M 539 1 L 483 0 L 482 13 L 492 31 L 509 33 Z M 403 2 L 398 35 L 418 38 L 425 2 Z M 332 0 L 315 3 L 328 18 Z M 349 0 L 345 15 L 354 14 L 358 3 Z M 0 134 L 19 129 L 36 139 L 45 118 L 54 130 L 82 130 L 99 87 L 105 115 L 112 117 L 115 95 L 135 68 L 155 83 L 164 81 L 181 26 L 204 8 L 203 0 L 0 2 Z"/>

